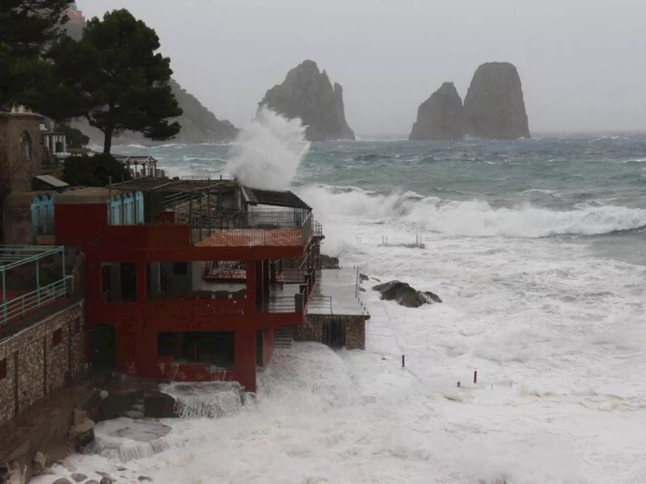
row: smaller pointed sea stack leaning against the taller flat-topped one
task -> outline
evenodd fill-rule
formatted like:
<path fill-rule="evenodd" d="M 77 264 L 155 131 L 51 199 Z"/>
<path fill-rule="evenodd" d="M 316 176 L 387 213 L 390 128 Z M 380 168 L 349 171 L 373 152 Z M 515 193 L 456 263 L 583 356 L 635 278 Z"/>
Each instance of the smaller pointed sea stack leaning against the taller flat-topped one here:
<path fill-rule="evenodd" d="M 417 110 L 417 121 L 408 139 L 463 139 L 462 98 L 453 83 L 444 83 Z"/>

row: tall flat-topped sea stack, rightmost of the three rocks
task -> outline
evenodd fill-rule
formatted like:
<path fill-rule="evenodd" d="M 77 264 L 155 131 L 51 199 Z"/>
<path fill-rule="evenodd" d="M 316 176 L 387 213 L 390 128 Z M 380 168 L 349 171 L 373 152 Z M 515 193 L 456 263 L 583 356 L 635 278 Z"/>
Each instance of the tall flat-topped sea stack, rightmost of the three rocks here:
<path fill-rule="evenodd" d="M 530 137 L 521 78 L 513 64 L 488 62 L 475 70 L 464 98 L 468 136 L 485 139 Z"/>

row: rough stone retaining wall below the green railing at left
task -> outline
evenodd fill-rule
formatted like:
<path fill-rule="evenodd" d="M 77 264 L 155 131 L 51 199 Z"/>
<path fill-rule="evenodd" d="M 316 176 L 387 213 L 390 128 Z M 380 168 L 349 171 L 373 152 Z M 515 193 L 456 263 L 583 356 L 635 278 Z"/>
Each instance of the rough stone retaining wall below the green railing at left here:
<path fill-rule="evenodd" d="M 83 326 L 79 301 L 0 341 L 0 425 L 85 371 Z"/>

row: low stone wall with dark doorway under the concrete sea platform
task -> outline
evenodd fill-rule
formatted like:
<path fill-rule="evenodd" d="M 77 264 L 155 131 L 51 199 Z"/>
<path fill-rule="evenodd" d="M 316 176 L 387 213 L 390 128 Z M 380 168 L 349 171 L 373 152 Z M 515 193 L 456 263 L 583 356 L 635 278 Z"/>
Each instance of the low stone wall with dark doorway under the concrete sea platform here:
<path fill-rule="evenodd" d="M 344 347 L 366 349 L 367 314 L 307 314 L 305 323 L 294 328 L 295 341 L 317 341 L 335 347 L 335 336 L 328 333 L 331 324 L 340 325 Z"/>

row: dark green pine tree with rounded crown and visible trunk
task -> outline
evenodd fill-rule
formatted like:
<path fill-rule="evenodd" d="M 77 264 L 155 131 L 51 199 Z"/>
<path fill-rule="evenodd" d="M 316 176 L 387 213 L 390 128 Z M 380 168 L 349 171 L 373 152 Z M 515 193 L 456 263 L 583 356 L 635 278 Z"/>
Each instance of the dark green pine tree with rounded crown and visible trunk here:
<path fill-rule="evenodd" d="M 86 117 L 105 135 L 104 154 L 110 153 L 112 136 L 125 130 L 154 141 L 170 139 L 181 128 L 171 119 L 182 110 L 169 85 L 171 61 L 159 48 L 155 31 L 127 10 L 94 17 L 82 39 L 65 37 L 52 48 L 50 85 L 56 96 L 47 96 L 54 101 L 41 112 L 59 120 Z"/>

